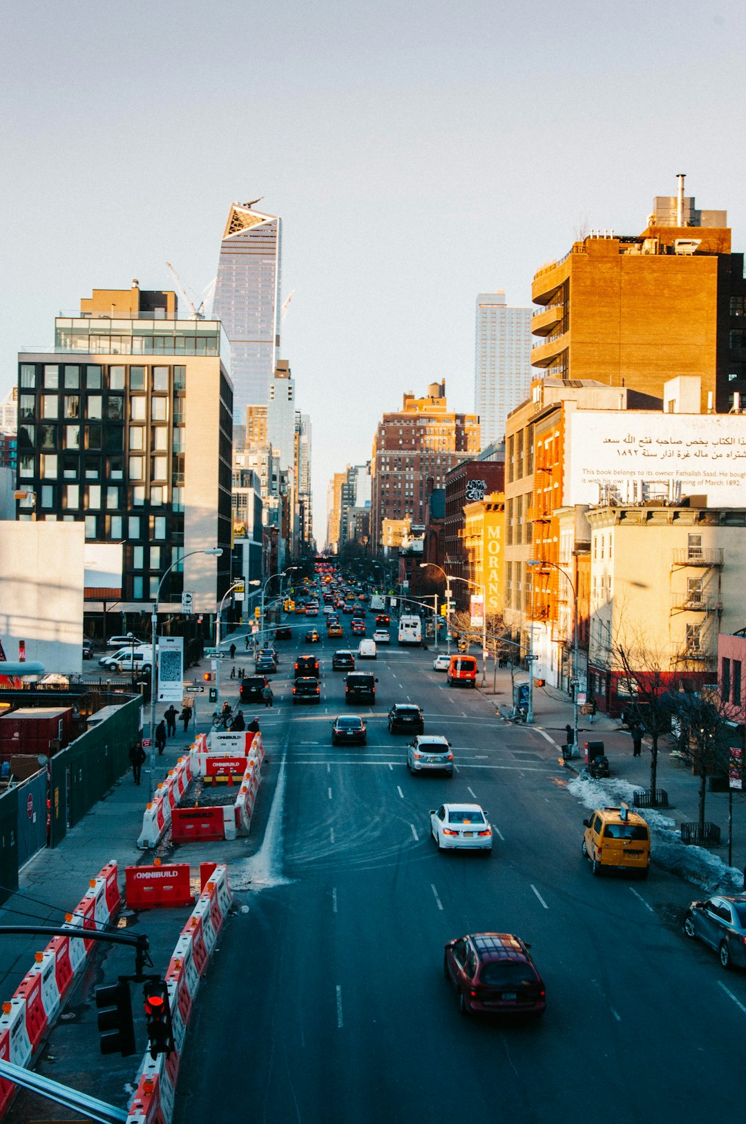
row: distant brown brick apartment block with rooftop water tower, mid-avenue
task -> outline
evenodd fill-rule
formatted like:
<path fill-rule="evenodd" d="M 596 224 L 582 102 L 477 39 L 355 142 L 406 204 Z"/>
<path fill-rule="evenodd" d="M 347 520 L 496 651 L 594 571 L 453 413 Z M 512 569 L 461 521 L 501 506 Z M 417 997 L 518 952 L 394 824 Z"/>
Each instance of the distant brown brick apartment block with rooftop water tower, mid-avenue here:
<path fill-rule="evenodd" d="M 479 451 L 479 418 L 448 410 L 445 379 L 430 383 L 424 398 L 404 395 L 401 410 L 384 414 L 373 438 L 374 549 L 383 544 L 384 519 L 424 526 L 429 493 L 444 487 L 449 469 Z"/>

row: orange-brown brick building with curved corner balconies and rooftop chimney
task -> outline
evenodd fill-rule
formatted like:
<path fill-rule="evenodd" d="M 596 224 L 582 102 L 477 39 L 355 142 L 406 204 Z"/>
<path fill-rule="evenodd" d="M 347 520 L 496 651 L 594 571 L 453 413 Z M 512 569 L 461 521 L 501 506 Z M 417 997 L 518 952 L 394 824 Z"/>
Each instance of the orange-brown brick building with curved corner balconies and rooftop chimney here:
<path fill-rule="evenodd" d="M 658 197 L 639 235 L 594 232 L 534 275 L 536 373 L 593 379 L 659 398 L 701 379 L 700 408 L 727 413 L 746 392 L 744 255 L 726 211 Z"/>

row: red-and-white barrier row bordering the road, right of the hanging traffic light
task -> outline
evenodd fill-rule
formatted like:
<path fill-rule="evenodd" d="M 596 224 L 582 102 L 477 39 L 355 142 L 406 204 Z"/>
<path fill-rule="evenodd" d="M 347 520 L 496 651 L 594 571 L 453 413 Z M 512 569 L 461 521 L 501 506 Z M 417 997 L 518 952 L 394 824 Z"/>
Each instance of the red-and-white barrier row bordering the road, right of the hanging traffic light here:
<path fill-rule="evenodd" d="M 167 1058 L 161 1054 L 155 1061 L 151 1059 L 149 1053 L 145 1054 L 137 1073 L 136 1090 L 129 1106 L 127 1124 L 171 1124 L 186 1027 L 200 976 L 204 975 L 208 966 L 204 926 L 209 928 L 210 949 L 213 949 L 217 933 L 225 924 L 230 903 L 227 868 L 215 867 L 182 930 L 166 972 L 174 1050 Z"/>

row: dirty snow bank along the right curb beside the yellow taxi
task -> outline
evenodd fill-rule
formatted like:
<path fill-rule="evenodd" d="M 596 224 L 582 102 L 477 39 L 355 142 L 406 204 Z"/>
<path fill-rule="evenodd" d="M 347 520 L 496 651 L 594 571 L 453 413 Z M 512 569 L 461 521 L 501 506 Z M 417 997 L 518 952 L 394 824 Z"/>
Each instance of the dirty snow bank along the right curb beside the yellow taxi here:
<path fill-rule="evenodd" d="M 613 778 L 591 780 L 590 777 L 575 777 L 567 785 L 567 791 L 591 812 L 607 805 L 619 805 L 622 800 L 634 808 L 633 796 L 638 788 L 639 785 Z M 656 863 L 699 886 L 706 894 L 738 894 L 743 890 L 744 872 L 736 867 L 728 867 L 719 855 L 711 854 L 704 847 L 682 843 L 676 823 L 671 816 L 656 808 L 640 808 L 639 812 L 651 828 L 651 845 Z"/>

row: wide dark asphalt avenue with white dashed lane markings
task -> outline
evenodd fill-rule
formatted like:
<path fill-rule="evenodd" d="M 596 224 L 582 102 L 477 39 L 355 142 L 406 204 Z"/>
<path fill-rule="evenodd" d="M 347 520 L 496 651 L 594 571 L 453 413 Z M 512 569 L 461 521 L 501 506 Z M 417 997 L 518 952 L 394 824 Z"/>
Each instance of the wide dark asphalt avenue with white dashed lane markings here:
<path fill-rule="evenodd" d="M 345 705 L 330 655 L 356 646 L 347 629 L 278 645 L 265 836 L 199 994 L 176 1120 L 665 1122 L 716 1105 L 739 1118 L 746 977 L 681 933 L 693 888 L 655 867 L 644 882 L 592 878 L 556 747 L 448 689 L 431 651 L 394 642 L 358 663 L 380 680 L 358 711 L 369 744 L 333 749 Z M 321 658 L 318 708 L 289 701 L 301 650 Z M 386 729 L 394 701 L 449 738 L 452 779 L 410 777 L 407 738 Z M 447 799 L 489 810 L 490 858 L 437 853 L 429 809 Z M 484 930 L 530 942 L 543 1018 L 460 1016 L 443 946 Z"/>

